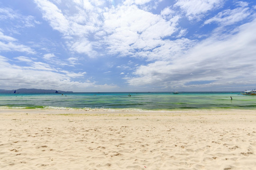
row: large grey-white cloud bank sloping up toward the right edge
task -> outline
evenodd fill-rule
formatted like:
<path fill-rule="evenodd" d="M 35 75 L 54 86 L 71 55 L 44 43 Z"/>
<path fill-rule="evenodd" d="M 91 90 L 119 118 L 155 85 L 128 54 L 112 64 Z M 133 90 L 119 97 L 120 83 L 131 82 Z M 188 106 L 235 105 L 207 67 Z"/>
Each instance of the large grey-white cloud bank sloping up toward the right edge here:
<path fill-rule="evenodd" d="M 197 43 L 172 61 L 155 61 L 140 66 L 133 77 L 127 77 L 130 85 L 155 85 L 165 87 L 201 87 L 217 85 L 256 84 L 253 63 L 256 53 L 256 20 L 238 27 L 237 34 L 212 37 Z M 198 85 L 189 85 L 197 81 Z M 200 81 L 209 81 L 200 85 Z"/>

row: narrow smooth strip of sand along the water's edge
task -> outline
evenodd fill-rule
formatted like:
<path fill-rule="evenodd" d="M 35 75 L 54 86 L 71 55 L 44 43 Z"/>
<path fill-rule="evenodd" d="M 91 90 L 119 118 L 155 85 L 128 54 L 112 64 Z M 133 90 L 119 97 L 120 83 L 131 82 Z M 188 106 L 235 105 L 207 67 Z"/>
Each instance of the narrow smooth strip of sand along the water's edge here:
<path fill-rule="evenodd" d="M 254 109 L 180 109 L 180 110 L 142 110 L 142 109 L 13 109 L 13 108 L 0 108 L 0 115 L 10 114 L 46 114 L 46 115 L 110 115 L 110 116 L 125 116 L 141 115 L 141 116 L 186 116 L 186 115 L 234 115 L 234 114 L 249 114 L 256 116 Z"/>

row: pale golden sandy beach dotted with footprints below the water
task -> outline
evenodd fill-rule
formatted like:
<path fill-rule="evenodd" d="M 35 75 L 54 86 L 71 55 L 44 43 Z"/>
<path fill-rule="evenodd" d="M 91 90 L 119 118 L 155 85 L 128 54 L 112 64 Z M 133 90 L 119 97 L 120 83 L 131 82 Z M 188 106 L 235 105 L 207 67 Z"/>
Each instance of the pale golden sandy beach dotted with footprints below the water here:
<path fill-rule="evenodd" d="M 256 170 L 256 110 L 0 110 L 0 170 Z"/>

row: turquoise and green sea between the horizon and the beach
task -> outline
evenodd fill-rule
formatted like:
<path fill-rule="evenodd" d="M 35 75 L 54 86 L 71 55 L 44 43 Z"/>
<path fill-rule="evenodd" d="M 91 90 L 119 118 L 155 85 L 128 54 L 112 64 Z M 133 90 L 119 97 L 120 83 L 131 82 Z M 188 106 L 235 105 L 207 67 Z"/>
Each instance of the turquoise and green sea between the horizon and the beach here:
<path fill-rule="evenodd" d="M 131 96 L 128 96 L 130 94 Z M 233 100 L 231 100 L 232 96 Z M 238 92 L 0 93 L 0 108 L 113 108 L 142 110 L 256 109 L 256 96 Z"/>

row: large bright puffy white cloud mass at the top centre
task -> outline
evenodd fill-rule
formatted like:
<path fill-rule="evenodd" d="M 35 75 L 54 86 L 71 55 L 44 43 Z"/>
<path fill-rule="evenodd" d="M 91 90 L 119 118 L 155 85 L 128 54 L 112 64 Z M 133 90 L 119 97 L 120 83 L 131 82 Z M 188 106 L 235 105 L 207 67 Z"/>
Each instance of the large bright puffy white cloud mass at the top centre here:
<path fill-rule="evenodd" d="M 101 0 L 75 0 L 76 12 L 71 13 L 48 0 L 36 0 L 44 18 L 67 40 L 69 50 L 92 58 L 102 56 L 101 50 L 119 56 L 132 55 L 137 50 L 151 51 L 165 44 L 165 37 L 178 32 L 180 17 L 171 16 L 170 8 L 156 15 L 137 6 L 150 1 L 131 0 L 116 8 L 107 8 L 104 7 L 107 3 Z"/>

